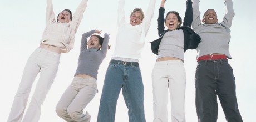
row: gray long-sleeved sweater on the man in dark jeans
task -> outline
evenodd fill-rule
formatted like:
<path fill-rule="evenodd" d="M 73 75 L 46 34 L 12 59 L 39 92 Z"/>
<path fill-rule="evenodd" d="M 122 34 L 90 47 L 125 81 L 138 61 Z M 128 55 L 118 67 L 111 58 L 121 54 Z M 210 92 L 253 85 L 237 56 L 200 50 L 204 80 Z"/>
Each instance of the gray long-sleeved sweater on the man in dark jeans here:
<path fill-rule="evenodd" d="M 199 0 L 193 1 L 193 22 L 192 28 L 201 37 L 201 43 L 199 43 L 198 57 L 208 55 L 211 53 L 219 53 L 227 55 L 228 58 L 232 58 L 229 54 L 229 41 L 230 41 L 230 27 L 232 19 L 234 17 L 234 9 L 232 0 L 225 0 L 225 15 L 221 23 L 216 24 L 201 24 Z M 197 57 L 197 58 L 198 58 Z"/>

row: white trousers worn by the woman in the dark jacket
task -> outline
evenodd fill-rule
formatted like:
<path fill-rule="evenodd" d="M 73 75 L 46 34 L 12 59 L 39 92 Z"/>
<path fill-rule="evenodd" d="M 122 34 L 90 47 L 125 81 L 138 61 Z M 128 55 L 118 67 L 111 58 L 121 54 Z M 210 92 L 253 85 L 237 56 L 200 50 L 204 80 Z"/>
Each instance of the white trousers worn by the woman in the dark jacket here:
<path fill-rule="evenodd" d="M 185 122 L 186 72 L 183 62 L 180 60 L 156 62 L 152 70 L 152 85 L 154 122 L 168 122 L 168 89 L 171 99 L 171 121 Z"/>

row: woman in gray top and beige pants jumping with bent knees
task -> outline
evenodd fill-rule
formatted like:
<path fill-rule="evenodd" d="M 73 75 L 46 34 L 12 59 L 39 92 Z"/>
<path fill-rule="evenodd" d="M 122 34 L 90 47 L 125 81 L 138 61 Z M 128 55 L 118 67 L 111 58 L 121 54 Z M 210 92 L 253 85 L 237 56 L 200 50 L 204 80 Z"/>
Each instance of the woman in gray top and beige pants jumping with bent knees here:
<path fill-rule="evenodd" d="M 102 38 L 93 33 L 100 34 L 101 31 L 91 30 L 82 35 L 75 77 L 56 106 L 58 116 L 66 121 L 90 121 L 91 118 L 83 109 L 97 93 L 98 69 L 109 49 L 109 34 L 104 34 Z"/>

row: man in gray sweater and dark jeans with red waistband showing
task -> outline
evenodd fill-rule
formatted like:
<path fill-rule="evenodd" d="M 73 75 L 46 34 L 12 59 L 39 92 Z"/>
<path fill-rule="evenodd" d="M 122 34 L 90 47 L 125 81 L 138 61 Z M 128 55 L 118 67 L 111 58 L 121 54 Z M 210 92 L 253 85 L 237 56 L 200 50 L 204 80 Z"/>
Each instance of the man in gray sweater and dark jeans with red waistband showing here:
<path fill-rule="evenodd" d="M 232 0 L 224 0 L 225 15 L 218 23 L 214 9 L 208 9 L 200 20 L 199 0 L 193 1 L 192 27 L 201 37 L 198 66 L 195 73 L 195 102 L 198 121 L 216 122 L 217 95 L 227 121 L 242 122 L 235 95 L 233 69 L 228 64 L 230 27 L 234 17 Z M 203 22 L 204 24 L 201 24 Z"/>

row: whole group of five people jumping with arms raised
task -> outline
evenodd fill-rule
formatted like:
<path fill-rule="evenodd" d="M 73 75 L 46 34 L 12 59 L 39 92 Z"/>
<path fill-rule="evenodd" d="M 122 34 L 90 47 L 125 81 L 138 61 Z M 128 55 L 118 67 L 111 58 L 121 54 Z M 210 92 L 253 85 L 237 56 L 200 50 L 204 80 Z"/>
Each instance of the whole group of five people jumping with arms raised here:
<path fill-rule="evenodd" d="M 87 2 L 82 0 L 73 15 L 69 9 L 64 9 L 56 19 L 52 0 L 47 0 L 46 28 L 40 46 L 31 54 L 24 67 L 8 122 L 39 121 L 41 106 L 58 71 L 60 55 L 73 48 Z M 176 11 L 169 11 L 165 16 L 165 2 L 161 0 L 157 18 L 159 38 L 150 42 L 152 53 L 157 55 L 151 75 L 154 101 L 152 121 L 168 122 L 168 90 L 171 121 L 186 121 L 184 53 L 188 49 L 196 49 L 198 65 L 195 72 L 195 105 L 198 121 L 217 121 L 218 96 L 225 119 L 228 122 L 242 122 L 233 69 L 228 63 L 228 59 L 232 58 L 229 53 L 230 27 L 234 17 L 232 0 L 224 0 L 225 14 L 221 22 L 214 9 L 208 9 L 200 18 L 199 0 L 186 0 L 184 19 Z M 141 8 L 135 8 L 130 14 L 130 22 L 126 22 L 125 0 L 118 2 L 116 45 L 105 74 L 97 122 L 115 121 L 121 90 L 128 108 L 129 121 L 146 121 L 139 58 L 154 16 L 155 3 L 156 0 L 149 1 L 145 14 Z M 65 121 L 91 120 L 85 108 L 98 92 L 98 70 L 110 49 L 110 35 L 105 33 L 101 37 L 100 34 L 101 30 L 96 29 L 82 34 L 76 73 L 56 105 L 57 115 Z M 38 73 L 40 77 L 35 92 L 24 114 Z"/>

